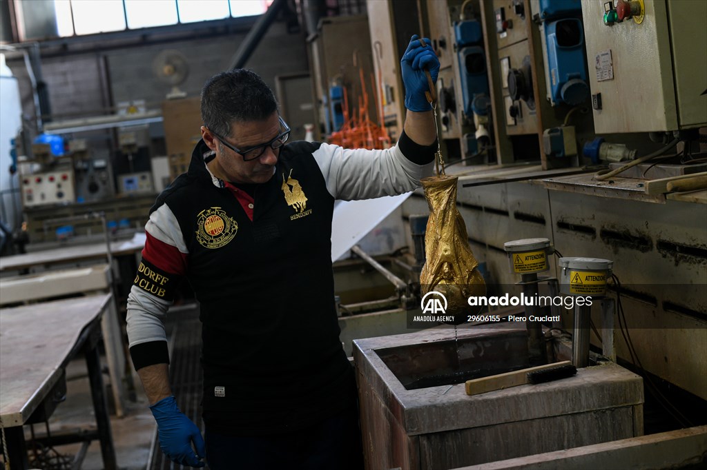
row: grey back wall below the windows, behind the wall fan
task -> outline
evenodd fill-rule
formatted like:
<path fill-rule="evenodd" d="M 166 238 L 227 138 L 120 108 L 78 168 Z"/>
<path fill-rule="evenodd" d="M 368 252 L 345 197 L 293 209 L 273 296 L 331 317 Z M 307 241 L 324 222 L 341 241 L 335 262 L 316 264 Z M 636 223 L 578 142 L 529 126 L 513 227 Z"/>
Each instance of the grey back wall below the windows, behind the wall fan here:
<path fill-rule="evenodd" d="M 118 102 L 145 100 L 157 104 L 170 86 L 160 83 L 152 62 L 163 49 L 177 49 L 187 57 L 189 76 L 180 85 L 188 95 L 198 95 L 204 81 L 228 68 L 245 32 L 211 36 L 208 39 L 145 44 L 42 59 L 42 74 L 49 90 L 54 115 L 92 116 Z M 192 35 L 194 36 L 194 35 Z M 8 66 L 20 84 L 23 112 L 35 115 L 28 73 L 20 54 L 8 57 Z M 301 33 L 288 33 L 282 22 L 273 23 L 246 64 L 274 89 L 274 77 L 308 70 L 307 51 Z"/>

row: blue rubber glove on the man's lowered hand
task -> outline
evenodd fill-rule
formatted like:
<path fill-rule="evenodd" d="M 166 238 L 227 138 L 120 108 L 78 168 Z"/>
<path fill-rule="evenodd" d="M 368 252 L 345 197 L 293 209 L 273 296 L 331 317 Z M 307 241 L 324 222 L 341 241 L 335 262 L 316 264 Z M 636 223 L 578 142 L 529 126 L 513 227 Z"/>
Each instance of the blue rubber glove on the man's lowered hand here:
<path fill-rule="evenodd" d="M 163 398 L 150 406 L 150 409 L 157 421 L 162 452 L 177 464 L 204 466 L 204 462 L 199 462 L 206 455 L 204 438 L 197 425 L 177 408 L 175 397 Z M 197 454 L 194 454 L 192 442 Z"/>

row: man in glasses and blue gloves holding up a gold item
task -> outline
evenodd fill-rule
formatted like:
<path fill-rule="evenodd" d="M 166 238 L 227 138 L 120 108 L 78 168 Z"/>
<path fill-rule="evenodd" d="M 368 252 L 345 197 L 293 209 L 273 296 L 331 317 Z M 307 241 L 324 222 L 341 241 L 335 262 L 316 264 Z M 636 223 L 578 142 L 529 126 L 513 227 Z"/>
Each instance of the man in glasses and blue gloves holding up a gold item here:
<path fill-rule="evenodd" d="M 211 469 L 360 469 L 353 369 L 334 311 L 334 200 L 411 191 L 431 174 L 425 98 L 439 61 L 413 36 L 402 61 L 404 133 L 387 150 L 285 145 L 289 128 L 255 73 L 211 78 L 202 140 L 158 197 L 128 299 L 134 366 L 175 462 Z M 161 320 L 177 281 L 200 302 L 204 440 L 170 390 Z M 193 447 L 192 447 L 193 446 Z"/>

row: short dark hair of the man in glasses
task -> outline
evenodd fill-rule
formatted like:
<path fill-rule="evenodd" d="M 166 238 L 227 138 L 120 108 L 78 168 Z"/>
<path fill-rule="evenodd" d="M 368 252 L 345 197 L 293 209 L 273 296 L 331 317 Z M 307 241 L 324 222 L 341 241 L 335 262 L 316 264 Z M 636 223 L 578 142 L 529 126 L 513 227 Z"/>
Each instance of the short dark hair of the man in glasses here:
<path fill-rule="evenodd" d="M 236 121 L 264 121 L 277 111 L 277 100 L 257 73 L 236 68 L 209 78 L 201 90 L 201 120 L 224 137 Z"/>

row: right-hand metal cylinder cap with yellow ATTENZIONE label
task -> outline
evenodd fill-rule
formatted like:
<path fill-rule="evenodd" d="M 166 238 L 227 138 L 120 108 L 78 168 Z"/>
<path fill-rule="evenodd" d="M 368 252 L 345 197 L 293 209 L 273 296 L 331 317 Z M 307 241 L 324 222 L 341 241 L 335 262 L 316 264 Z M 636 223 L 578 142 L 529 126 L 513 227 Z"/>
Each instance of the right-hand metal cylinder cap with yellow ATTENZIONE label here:
<path fill-rule="evenodd" d="M 602 258 L 560 258 L 560 291 L 570 296 L 605 296 L 614 262 Z"/>

